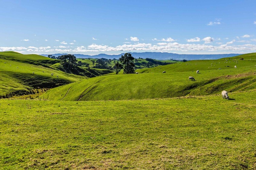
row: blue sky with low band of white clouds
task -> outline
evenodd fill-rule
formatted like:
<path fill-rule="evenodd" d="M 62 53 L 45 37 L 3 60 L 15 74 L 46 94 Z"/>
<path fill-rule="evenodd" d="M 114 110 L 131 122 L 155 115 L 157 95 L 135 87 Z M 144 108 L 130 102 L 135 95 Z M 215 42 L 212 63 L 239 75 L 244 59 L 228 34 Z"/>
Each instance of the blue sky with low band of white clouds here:
<path fill-rule="evenodd" d="M 0 51 L 256 52 L 256 1 L 2 1 Z"/>

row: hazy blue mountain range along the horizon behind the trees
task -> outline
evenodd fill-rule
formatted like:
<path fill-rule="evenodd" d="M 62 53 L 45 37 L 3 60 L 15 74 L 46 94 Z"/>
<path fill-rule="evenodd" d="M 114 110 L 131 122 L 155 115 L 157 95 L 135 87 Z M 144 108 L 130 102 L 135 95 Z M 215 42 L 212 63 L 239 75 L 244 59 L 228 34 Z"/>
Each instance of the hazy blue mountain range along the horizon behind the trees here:
<path fill-rule="evenodd" d="M 74 54 L 76 58 L 120 58 L 121 55 L 125 53 L 118 54 L 118 55 L 109 55 L 109 54 L 98 54 L 98 55 L 84 55 L 84 54 Z M 41 54 L 42 56 L 48 56 L 48 54 Z M 52 54 L 54 56 L 60 56 L 65 54 Z M 167 53 L 167 52 L 142 52 L 142 53 L 131 53 L 134 58 L 152 58 L 156 60 L 212 60 L 212 59 L 219 59 L 224 57 L 234 57 L 241 54 L 175 54 L 175 53 Z"/>

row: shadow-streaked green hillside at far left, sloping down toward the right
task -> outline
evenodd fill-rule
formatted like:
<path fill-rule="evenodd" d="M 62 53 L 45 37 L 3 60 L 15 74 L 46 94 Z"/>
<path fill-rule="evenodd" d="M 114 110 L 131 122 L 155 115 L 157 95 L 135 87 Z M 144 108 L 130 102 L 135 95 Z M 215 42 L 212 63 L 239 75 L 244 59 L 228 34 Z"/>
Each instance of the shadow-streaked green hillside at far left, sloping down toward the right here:
<path fill-rule="evenodd" d="M 51 76 L 51 73 L 54 73 L 54 76 Z M 56 87 L 56 84 L 63 85 L 78 79 L 80 76 L 43 66 L 0 59 L 0 96 L 26 93 L 31 87 Z"/>

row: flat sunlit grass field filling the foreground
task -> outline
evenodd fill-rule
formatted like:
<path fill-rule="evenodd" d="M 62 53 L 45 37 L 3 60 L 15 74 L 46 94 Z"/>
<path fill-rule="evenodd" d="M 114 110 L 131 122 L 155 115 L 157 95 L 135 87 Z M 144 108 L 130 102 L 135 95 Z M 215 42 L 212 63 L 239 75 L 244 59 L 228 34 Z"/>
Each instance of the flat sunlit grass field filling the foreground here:
<path fill-rule="evenodd" d="M 120 101 L 0 100 L 3 169 L 255 169 L 256 91 Z"/>

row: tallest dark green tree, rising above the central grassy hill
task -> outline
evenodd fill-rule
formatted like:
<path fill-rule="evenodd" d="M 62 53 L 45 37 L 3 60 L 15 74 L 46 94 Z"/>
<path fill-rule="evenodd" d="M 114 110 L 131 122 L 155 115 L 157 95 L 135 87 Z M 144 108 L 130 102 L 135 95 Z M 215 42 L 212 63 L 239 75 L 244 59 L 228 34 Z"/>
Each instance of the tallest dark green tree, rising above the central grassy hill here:
<path fill-rule="evenodd" d="M 131 56 L 131 53 L 125 53 L 119 60 L 124 66 L 124 73 L 131 74 L 135 72 L 135 64 L 133 63 L 134 57 Z"/>

